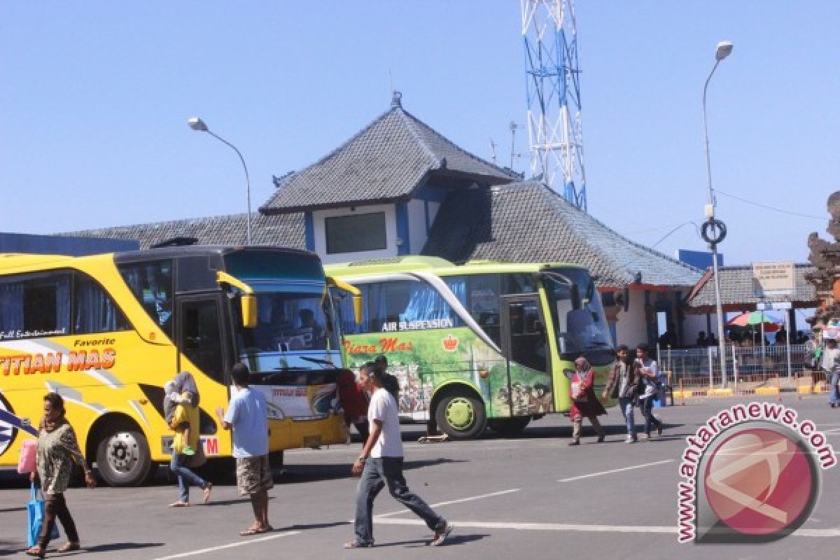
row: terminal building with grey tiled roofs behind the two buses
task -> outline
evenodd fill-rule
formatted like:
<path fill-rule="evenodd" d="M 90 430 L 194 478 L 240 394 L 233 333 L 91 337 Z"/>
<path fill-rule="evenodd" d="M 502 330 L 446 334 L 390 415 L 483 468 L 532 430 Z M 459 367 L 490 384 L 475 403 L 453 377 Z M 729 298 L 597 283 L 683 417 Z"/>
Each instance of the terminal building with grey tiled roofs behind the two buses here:
<path fill-rule="evenodd" d="M 701 270 L 633 243 L 541 183 L 521 181 L 408 113 L 395 92 L 391 108 L 339 148 L 275 180 L 252 219 L 253 243 L 308 249 L 325 263 L 423 254 L 585 264 L 617 342 L 653 342 L 657 312 L 680 331 L 682 301 Z M 171 238 L 239 244 L 245 221 L 234 214 L 71 235 L 136 239 L 141 248 Z"/>

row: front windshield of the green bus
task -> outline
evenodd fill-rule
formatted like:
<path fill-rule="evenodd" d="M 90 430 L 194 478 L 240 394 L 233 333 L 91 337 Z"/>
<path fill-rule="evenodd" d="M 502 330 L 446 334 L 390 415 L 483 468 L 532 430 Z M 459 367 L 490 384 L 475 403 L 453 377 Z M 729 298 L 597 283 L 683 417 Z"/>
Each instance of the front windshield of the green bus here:
<path fill-rule="evenodd" d="M 589 273 L 578 268 L 557 268 L 543 274 L 549 295 L 557 347 L 561 354 L 584 353 L 595 365 L 593 354 L 612 359 L 612 342 L 601 297 Z"/>

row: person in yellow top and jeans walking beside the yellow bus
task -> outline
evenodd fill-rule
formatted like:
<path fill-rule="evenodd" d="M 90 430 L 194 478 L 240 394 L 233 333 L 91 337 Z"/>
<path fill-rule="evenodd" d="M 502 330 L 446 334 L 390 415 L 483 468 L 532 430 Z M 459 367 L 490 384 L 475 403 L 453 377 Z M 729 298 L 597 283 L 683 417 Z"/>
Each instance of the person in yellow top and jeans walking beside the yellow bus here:
<path fill-rule="evenodd" d="M 172 438 L 172 459 L 169 468 L 178 477 L 179 494 L 178 501 L 170 506 L 190 506 L 190 484 L 202 489 L 202 497 L 207 504 L 213 491 L 213 483 L 202 479 L 188 467 L 191 458 L 196 454 L 195 450 L 201 445 L 198 433 L 198 387 L 190 372 L 182 371 L 176 375 L 172 393 L 168 399 L 176 406 L 172 411 L 169 426 L 175 431 L 175 437 Z"/>

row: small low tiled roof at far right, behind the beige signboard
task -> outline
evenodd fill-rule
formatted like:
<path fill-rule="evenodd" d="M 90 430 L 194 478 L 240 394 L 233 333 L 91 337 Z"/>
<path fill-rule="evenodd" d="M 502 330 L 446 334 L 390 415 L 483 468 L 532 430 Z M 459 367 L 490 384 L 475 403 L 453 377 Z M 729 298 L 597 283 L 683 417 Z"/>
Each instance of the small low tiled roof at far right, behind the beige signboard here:
<path fill-rule="evenodd" d="M 722 266 L 717 269 L 721 281 L 721 305 L 724 311 L 734 309 L 755 309 L 759 301 L 793 301 L 803 307 L 816 306 L 816 288 L 805 279 L 809 272 L 816 272 L 812 264 L 795 264 L 793 296 L 769 296 L 764 299 L 753 296 L 753 266 Z M 687 306 L 696 309 L 714 307 L 715 283 L 711 278 L 711 269 L 706 271 L 694 290 L 691 291 Z M 726 307 L 730 306 L 730 310 Z"/>

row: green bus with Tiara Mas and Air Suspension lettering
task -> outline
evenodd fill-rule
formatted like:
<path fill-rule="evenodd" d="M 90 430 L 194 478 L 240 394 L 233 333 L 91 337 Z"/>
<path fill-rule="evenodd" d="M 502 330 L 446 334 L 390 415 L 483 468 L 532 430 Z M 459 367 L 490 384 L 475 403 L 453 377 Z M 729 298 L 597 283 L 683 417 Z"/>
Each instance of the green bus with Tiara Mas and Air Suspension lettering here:
<path fill-rule="evenodd" d="M 349 368 L 381 354 L 400 381 L 400 414 L 453 439 L 512 435 L 570 409 L 583 355 L 603 385 L 615 361 L 589 271 L 575 264 L 396 257 L 325 267 L 361 292 L 338 301 Z"/>

